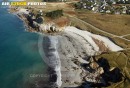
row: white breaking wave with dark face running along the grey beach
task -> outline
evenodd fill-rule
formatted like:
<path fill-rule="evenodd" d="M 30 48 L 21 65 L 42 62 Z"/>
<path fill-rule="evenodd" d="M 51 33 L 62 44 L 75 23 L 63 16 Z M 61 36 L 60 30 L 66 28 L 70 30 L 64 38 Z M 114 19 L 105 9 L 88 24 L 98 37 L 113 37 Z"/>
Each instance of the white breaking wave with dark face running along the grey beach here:
<path fill-rule="evenodd" d="M 39 37 L 38 42 L 39 52 L 42 56 L 44 62 L 54 71 L 56 74 L 55 83 L 58 87 L 61 86 L 61 62 L 57 52 L 58 48 L 58 38 L 57 36 L 44 36 Z M 51 81 L 51 79 L 50 79 Z"/>

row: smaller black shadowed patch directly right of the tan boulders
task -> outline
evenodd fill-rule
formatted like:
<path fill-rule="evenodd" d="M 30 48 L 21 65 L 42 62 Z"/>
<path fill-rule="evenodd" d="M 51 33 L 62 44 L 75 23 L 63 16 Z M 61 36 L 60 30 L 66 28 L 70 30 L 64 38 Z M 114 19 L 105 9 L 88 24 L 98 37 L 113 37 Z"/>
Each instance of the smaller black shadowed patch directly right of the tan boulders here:
<path fill-rule="evenodd" d="M 110 65 L 109 65 L 107 59 L 101 57 L 101 58 L 97 61 L 97 63 L 99 64 L 100 67 L 103 67 L 103 70 L 104 70 L 105 72 L 108 72 L 108 71 L 109 71 Z"/>

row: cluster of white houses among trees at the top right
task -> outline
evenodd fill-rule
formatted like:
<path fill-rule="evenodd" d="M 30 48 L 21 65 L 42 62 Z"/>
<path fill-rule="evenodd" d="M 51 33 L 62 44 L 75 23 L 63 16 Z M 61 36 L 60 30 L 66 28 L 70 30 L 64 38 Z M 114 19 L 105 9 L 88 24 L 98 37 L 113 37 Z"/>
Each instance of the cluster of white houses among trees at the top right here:
<path fill-rule="evenodd" d="M 123 2 L 125 1 L 127 0 L 123 0 Z M 130 14 L 130 4 L 117 4 L 115 1 L 110 2 L 108 0 L 100 0 L 99 2 L 96 0 L 81 0 L 77 5 L 80 9 L 89 9 L 94 12 L 109 14 Z"/>

